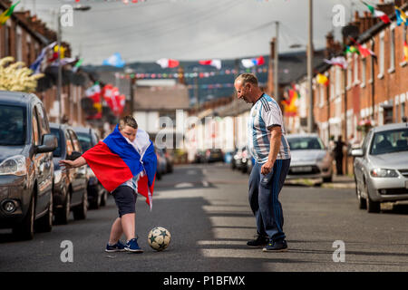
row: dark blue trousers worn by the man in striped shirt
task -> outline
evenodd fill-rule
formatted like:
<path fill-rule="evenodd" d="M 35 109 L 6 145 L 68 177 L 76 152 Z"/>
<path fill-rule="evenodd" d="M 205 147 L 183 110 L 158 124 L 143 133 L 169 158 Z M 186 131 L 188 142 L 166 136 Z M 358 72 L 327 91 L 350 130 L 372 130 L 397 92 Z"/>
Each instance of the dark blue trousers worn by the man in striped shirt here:
<path fill-rule="evenodd" d="M 278 197 L 287 178 L 290 159 L 276 160 L 272 171 L 266 175 L 261 174 L 262 165 L 256 162 L 249 177 L 249 205 L 257 220 L 257 234 L 274 242 L 280 241 L 286 236 Z"/>

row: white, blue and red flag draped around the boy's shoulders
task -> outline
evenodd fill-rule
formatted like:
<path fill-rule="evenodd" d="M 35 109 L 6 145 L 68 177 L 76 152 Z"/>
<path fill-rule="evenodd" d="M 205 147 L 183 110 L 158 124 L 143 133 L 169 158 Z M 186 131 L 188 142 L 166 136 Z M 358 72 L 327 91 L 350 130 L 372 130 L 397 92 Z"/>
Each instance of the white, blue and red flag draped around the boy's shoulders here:
<path fill-rule="evenodd" d="M 83 158 L 102 186 L 110 192 L 141 173 L 138 193 L 152 206 L 157 157 L 145 131 L 138 129 L 135 140 L 131 142 L 121 135 L 116 125 L 108 137 L 83 153 Z"/>

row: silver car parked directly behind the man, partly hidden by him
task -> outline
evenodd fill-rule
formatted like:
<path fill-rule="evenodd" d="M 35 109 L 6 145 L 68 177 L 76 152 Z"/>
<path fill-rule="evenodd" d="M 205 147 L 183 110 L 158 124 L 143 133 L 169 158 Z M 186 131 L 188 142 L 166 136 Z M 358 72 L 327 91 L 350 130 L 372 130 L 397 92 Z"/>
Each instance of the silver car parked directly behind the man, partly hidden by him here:
<path fill-rule="evenodd" d="M 323 179 L 331 182 L 333 157 L 317 134 L 287 135 L 291 161 L 287 179 Z"/>

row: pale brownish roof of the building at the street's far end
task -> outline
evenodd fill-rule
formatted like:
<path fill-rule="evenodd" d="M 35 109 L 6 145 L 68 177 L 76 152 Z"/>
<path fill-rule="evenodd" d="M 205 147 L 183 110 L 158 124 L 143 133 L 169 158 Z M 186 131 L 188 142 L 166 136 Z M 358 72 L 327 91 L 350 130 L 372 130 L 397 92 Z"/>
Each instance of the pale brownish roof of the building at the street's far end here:
<path fill-rule="evenodd" d="M 189 109 L 189 92 L 184 85 L 173 87 L 138 86 L 134 94 L 136 111 L 146 110 L 187 110 Z"/>

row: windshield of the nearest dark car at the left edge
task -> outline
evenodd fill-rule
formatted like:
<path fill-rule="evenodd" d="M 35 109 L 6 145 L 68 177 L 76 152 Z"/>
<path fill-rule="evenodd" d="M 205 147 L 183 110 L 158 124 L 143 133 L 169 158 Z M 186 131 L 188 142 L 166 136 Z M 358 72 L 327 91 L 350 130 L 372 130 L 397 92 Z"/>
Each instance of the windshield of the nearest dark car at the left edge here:
<path fill-rule="evenodd" d="M 25 108 L 0 105 L 0 145 L 24 145 L 26 131 Z"/>

